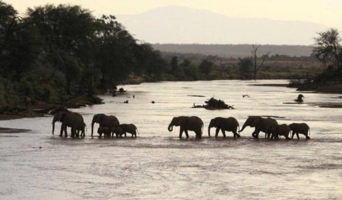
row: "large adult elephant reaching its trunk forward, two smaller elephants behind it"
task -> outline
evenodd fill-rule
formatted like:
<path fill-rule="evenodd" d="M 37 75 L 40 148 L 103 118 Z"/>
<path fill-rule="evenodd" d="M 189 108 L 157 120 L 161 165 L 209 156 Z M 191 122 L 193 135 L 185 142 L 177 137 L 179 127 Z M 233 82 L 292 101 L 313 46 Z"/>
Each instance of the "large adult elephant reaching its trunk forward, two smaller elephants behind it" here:
<path fill-rule="evenodd" d="M 242 126 L 242 129 L 239 132 L 242 132 L 246 126 L 250 127 L 255 127 L 254 132 L 252 133 L 253 138 L 259 138 L 259 133 L 264 132 L 265 133 L 265 138 L 267 135 L 267 138 L 270 138 L 270 135 L 276 131 L 275 127 L 274 128 L 268 128 L 268 126 L 272 125 L 278 125 L 277 120 L 272 119 L 272 118 L 262 118 L 259 116 L 250 116 L 248 119 L 245 121 L 245 123 Z"/>

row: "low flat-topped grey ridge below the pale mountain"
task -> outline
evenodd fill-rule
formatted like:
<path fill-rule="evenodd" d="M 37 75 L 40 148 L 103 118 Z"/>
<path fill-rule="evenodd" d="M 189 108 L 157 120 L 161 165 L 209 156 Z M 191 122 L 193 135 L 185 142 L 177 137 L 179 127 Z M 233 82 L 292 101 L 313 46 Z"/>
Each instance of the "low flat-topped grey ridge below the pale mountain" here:
<path fill-rule="evenodd" d="M 226 58 L 246 57 L 251 55 L 252 44 L 152 44 L 161 52 L 183 54 L 203 54 Z M 259 56 L 270 51 L 270 55 L 310 56 L 312 46 L 302 45 L 260 45 Z"/>

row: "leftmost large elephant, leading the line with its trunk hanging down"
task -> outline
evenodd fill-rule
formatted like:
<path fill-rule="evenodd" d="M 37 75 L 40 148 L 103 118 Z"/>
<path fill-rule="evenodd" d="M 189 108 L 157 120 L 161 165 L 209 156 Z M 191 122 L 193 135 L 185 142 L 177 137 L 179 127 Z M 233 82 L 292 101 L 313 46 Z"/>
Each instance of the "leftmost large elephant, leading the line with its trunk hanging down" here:
<path fill-rule="evenodd" d="M 82 115 L 78 113 L 73 113 L 73 112 L 60 111 L 56 113 L 53 117 L 52 135 L 54 135 L 56 121 L 62 122 L 61 134 L 60 134 L 61 137 L 63 136 L 63 131 L 64 131 L 64 136 L 67 137 L 66 127 L 71 127 L 71 137 L 75 137 L 76 131 L 84 123 Z"/>

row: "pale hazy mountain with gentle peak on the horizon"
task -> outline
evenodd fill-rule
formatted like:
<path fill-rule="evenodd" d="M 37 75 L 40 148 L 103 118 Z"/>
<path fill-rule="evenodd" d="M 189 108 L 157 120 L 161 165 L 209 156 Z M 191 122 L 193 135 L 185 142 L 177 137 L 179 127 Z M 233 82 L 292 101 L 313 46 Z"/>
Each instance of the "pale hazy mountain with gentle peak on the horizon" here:
<path fill-rule="evenodd" d="M 303 21 L 231 18 L 184 6 L 116 17 L 136 38 L 149 43 L 310 45 L 317 32 L 328 28 Z"/>

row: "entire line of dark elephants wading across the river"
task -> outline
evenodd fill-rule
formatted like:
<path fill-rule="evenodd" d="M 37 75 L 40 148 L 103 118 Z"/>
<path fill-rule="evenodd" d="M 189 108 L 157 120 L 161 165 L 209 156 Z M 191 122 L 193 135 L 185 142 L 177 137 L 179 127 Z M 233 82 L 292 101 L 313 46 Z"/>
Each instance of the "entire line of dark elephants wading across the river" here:
<path fill-rule="evenodd" d="M 71 127 L 71 137 L 85 137 L 85 122 L 83 120 L 82 115 L 69 111 L 60 111 L 56 113 L 52 120 L 52 134 L 54 134 L 55 130 L 55 122 L 62 122 L 61 133 L 60 136 L 67 137 L 66 128 Z M 91 136 L 93 136 L 94 124 L 98 123 L 99 128 L 97 133 L 100 137 L 102 134 L 104 137 L 113 137 L 114 134 L 116 137 L 122 137 L 127 133 L 130 133 L 132 137 L 136 137 L 137 127 L 134 124 L 120 124 L 119 120 L 115 116 L 107 116 L 105 114 L 96 114 L 93 116 L 91 121 Z M 196 134 L 197 138 L 202 137 L 203 133 L 203 121 L 196 116 L 186 117 L 174 117 L 172 118 L 168 130 L 171 132 L 173 130 L 173 126 L 180 126 L 179 129 L 179 138 L 182 137 L 183 132 L 186 137 L 189 138 L 188 131 L 193 131 Z M 222 118 L 217 117 L 210 121 L 208 126 L 208 136 L 210 136 L 210 129 L 216 128 L 215 137 L 218 136 L 218 133 L 221 131 L 223 137 L 226 137 L 226 131 L 232 132 L 234 138 L 240 137 L 240 132 L 242 132 L 247 126 L 254 127 L 255 130 L 252 133 L 253 138 L 258 138 L 259 133 L 265 133 L 265 139 L 279 139 L 280 136 L 285 137 L 286 139 L 290 139 L 290 132 L 292 131 L 291 139 L 293 139 L 294 135 L 299 139 L 299 134 L 303 134 L 306 139 L 310 139 L 308 134 L 310 133 L 310 128 L 306 123 L 291 123 L 287 124 L 278 124 L 277 120 L 272 118 L 262 118 L 259 116 L 250 116 L 242 125 L 242 129 L 240 130 L 239 122 L 233 118 Z M 81 135 L 80 135 L 81 132 Z"/>

